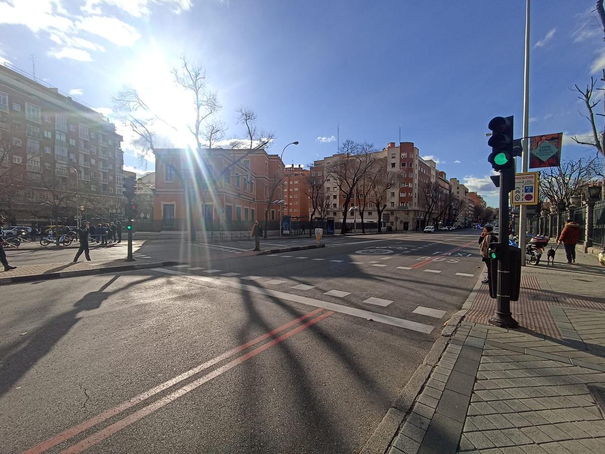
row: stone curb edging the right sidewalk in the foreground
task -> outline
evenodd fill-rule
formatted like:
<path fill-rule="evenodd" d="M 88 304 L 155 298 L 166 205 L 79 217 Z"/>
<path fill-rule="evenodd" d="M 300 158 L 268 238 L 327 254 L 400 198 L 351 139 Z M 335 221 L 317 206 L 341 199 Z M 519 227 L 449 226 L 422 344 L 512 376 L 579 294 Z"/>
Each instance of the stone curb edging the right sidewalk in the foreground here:
<path fill-rule="evenodd" d="M 410 380 L 408 380 L 408 383 L 405 384 L 403 390 L 397 395 L 390 409 L 387 410 L 387 414 L 382 418 L 382 421 L 378 424 L 378 427 L 376 427 L 359 454 L 384 454 L 387 452 L 388 447 L 391 446 L 393 439 L 397 436 L 399 428 L 404 423 L 405 417 L 410 413 L 414 401 L 416 401 L 416 398 L 420 395 L 420 392 L 422 392 L 422 389 L 431 376 L 431 372 L 433 372 L 433 369 L 439 362 L 446 346 L 450 343 L 450 337 L 454 334 L 454 331 L 456 331 L 469 308 L 473 305 L 474 300 L 477 298 L 481 285 L 481 274 L 479 274 L 479 278 L 468 298 L 466 298 L 462 305 L 462 309 L 446 322 L 447 325 L 442 329 L 440 336 L 424 358 L 424 361 L 418 366 L 414 374 L 410 377 Z"/>

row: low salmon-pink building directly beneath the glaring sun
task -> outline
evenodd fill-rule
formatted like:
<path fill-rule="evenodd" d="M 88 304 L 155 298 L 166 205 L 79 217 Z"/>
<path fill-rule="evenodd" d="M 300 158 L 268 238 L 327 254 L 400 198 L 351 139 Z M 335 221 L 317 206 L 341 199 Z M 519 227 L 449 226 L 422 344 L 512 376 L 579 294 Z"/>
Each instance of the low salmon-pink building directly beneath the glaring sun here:
<path fill-rule="evenodd" d="M 245 149 L 159 149 L 155 155 L 154 230 L 250 230 L 264 221 L 272 228 L 283 207 L 284 164 L 279 155 Z M 267 207 L 267 204 L 269 206 Z"/>

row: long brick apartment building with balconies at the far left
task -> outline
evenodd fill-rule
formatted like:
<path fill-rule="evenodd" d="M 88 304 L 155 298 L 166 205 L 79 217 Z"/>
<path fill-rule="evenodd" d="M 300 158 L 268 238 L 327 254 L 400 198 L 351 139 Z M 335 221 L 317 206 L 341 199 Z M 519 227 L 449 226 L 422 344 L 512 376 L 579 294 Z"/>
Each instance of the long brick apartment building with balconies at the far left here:
<path fill-rule="evenodd" d="M 10 65 L 0 65 L 0 211 L 19 224 L 117 215 L 122 136 L 91 106 Z M 18 180 L 18 181 L 15 181 Z"/>

